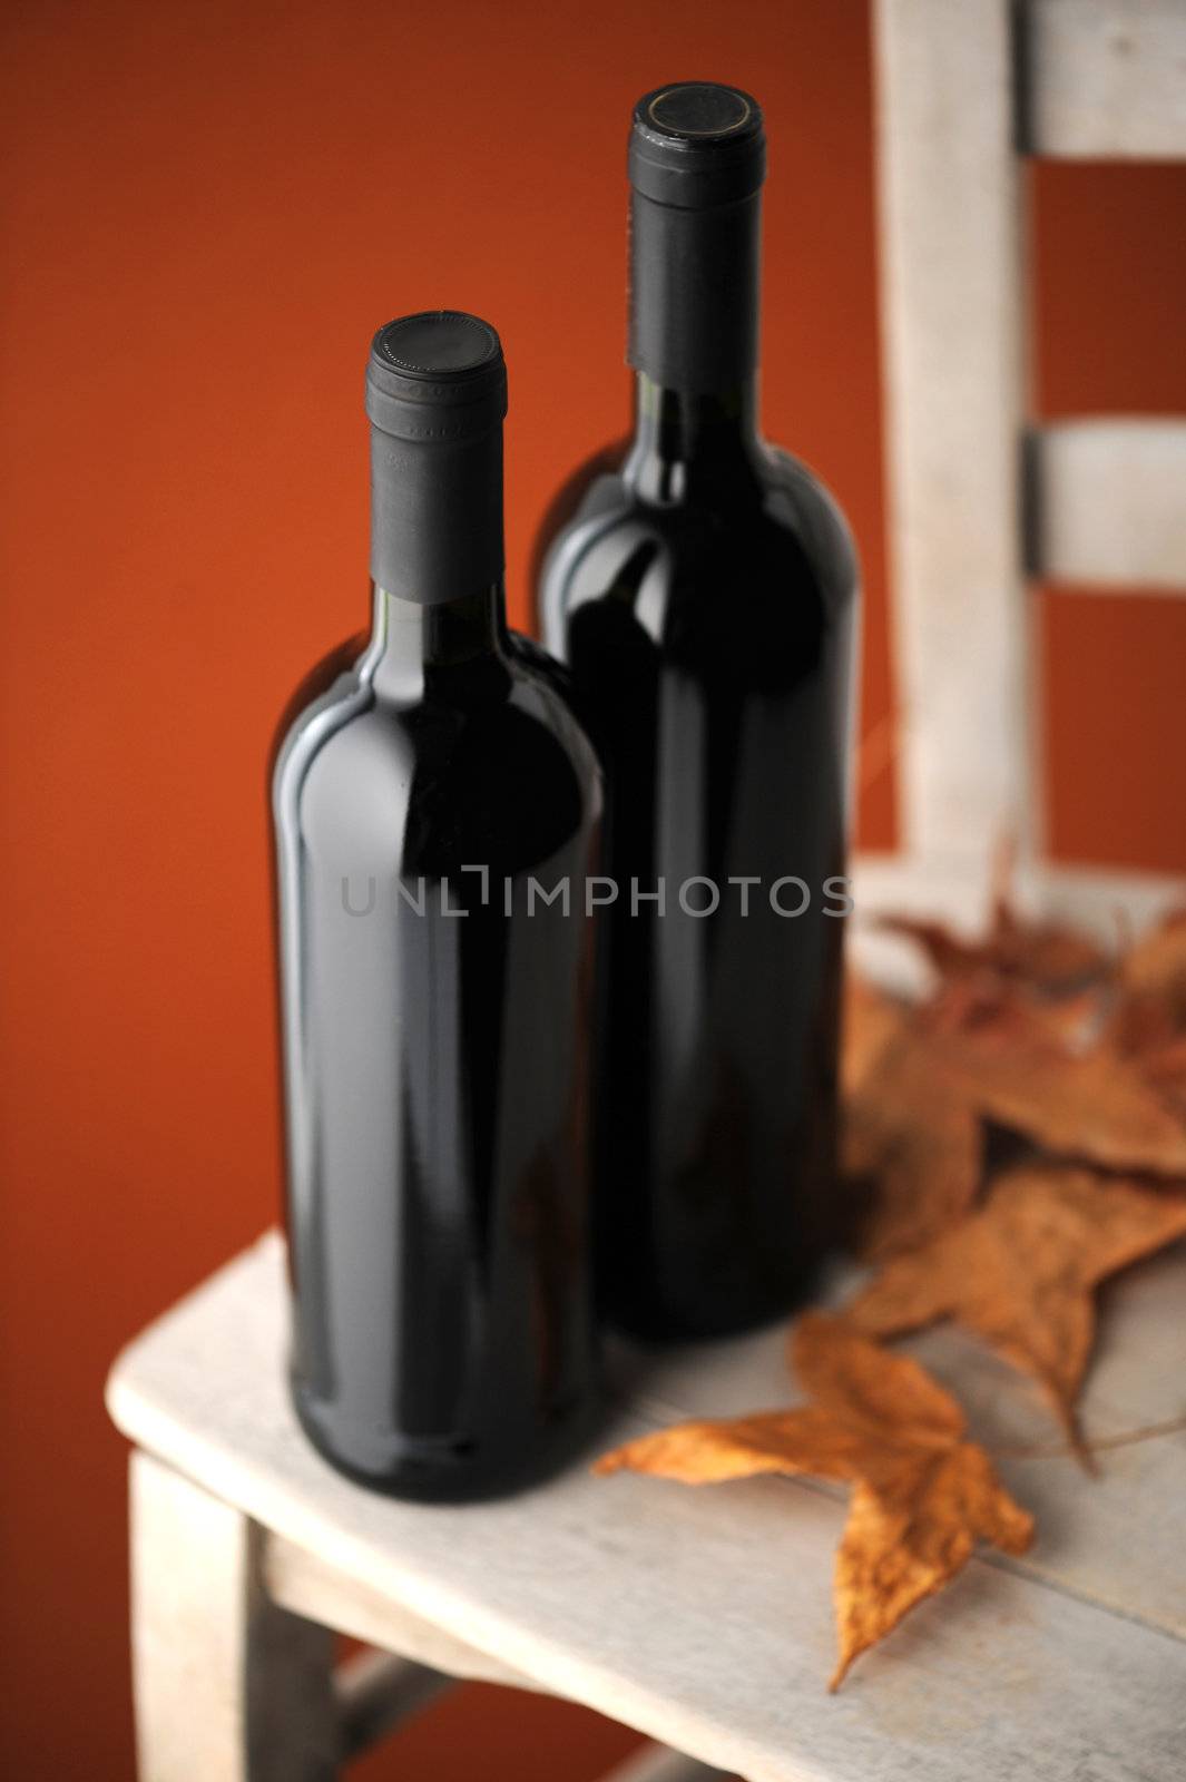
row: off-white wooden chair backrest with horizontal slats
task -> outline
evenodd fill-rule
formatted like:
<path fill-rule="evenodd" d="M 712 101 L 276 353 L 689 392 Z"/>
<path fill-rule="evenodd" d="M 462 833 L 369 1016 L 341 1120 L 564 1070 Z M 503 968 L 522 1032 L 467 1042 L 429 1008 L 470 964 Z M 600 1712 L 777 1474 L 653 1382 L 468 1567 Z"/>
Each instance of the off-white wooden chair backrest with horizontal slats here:
<path fill-rule="evenodd" d="M 1013 832 L 1033 903 L 1141 920 L 1181 886 L 1044 854 L 1029 577 L 1186 595 L 1186 417 L 1031 424 L 1022 153 L 1182 159 L 1186 5 L 876 0 L 874 18 L 905 839 L 858 862 L 858 909 L 972 914 Z"/>

